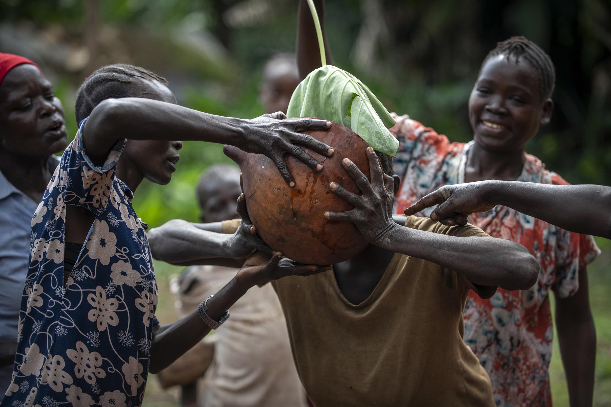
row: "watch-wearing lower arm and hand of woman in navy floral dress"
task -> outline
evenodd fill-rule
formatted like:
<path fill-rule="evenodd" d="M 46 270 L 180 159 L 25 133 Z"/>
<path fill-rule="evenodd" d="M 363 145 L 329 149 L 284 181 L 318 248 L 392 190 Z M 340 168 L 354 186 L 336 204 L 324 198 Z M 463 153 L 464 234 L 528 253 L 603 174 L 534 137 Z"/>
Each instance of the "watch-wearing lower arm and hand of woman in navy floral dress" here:
<path fill-rule="evenodd" d="M 281 259 L 282 253 L 268 255 L 254 252 L 247 257 L 244 265 L 233 279 L 214 294 L 208 301 L 208 316 L 220 320 L 238 299 L 254 285 L 265 284 L 285 276 L 311 276 L 330 270 L 329 266 L 296 265 L 288 259 Z M 197 311 L 170 324 L 153 328 L 150 372 L 158 373 L 169 366 L 187 350 L 194 347 L 210 332 Z"/>

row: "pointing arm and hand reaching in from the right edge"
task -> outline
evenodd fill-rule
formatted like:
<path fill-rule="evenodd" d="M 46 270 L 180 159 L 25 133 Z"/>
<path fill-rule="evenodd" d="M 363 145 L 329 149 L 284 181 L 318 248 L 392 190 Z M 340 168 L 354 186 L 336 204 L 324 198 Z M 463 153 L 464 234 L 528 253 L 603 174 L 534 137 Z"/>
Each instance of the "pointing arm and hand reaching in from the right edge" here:
<path fill-rule="evenodd" d="M 608 186 L 489 180 L 442 186 L 407 208 L 405 214 L 437 205 L 431 219 L 464 225 L 471 213 L 503 205 L 571 232 L 611 239 L 610 202 Z"/>

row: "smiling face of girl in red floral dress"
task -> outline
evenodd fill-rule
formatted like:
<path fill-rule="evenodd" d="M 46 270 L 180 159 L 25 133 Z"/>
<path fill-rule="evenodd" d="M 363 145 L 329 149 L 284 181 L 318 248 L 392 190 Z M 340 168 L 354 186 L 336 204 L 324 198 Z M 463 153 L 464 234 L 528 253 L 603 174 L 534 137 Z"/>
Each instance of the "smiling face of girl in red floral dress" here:
<path fill-rule="evenodd" d="M 549 122 L 554 104 L 542 100 L 539 77 L 524 59 L 504 54 L 481 68 L 469 97 L 469 121 L 477 144 L 496 153 L 524 150 L 540 125 Z"/>

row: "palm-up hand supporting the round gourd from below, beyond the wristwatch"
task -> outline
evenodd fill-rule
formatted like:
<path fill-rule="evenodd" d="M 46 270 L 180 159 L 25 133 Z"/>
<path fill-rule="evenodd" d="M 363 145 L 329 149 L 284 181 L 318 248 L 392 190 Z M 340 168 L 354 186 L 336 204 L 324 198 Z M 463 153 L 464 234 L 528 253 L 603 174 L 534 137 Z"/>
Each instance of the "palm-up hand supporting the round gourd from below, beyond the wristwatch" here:
<path fill-rule="evenodd" d="M 236 275 L 236 280 L 244 282 L 246 287 L 252 287 L 286 276 L 305 277 L 329 270 L 331 266 L 304 265 L 295 263 L 293 260 L 282 259 L 281 252 L 273 252 L 270 256 L 257 251 L 247 257 Z"/>

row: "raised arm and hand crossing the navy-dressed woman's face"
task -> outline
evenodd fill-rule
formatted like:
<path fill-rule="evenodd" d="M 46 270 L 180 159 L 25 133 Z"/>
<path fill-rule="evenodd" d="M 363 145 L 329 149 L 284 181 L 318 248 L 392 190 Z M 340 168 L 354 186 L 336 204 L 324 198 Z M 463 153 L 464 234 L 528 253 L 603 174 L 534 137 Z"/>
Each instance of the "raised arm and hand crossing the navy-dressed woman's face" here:
<path fill-rule="evenodd" d="M 247 120 L 215 116 L 159 100 L 121 98 L 107 99 L 95 106 L 85 124 L 83 143 L 95 164 L 103 164 L 119 139 L 230 144 L 246 152 L 268 156 L 287 184 L 293 186 L 295 180 L 282 155 L 294 155 L 313 170 L 321 171 L 322 164 L 299 145 L 323 156 L 331 156 L 333 150 L 309 134 L 298 132 L 329 127 L 331 122 L 326 120 L 287 120 L 282 112 Z"/>

